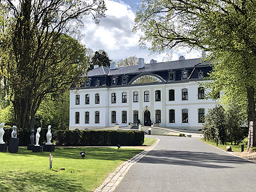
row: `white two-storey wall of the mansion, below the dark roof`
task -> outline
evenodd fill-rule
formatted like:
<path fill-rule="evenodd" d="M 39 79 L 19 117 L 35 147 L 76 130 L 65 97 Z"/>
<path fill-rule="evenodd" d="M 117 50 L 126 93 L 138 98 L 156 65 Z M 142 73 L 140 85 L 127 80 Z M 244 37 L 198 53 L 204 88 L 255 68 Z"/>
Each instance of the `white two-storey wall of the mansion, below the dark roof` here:
<path fill-rule="evenodd" d="M 202 122 L 199 122 L 198 118 L 198 109 L 204 109 L 205 115 L 209 108 L 214 108 L 216 100 L 198 99 L 199 87 L 197 81 L 179 81 L 177 83 L 104 86 L 70 90 L 70 129 L 84 130 L 98 127 L 113 127 L 116 122 L 120 127 L 127 127 L 129 122 L 134 122 L 134 111 L 138 111 L 138 118 L 140 122 L 144 124 L 146 110 L 150 111 L 150 119 L 154 123 L 157 122 L 156 110 L 160 110 L 160 127 L 193 130 L 202 129 Z M 188 89 L 187 100 L 182 100 L 182 89 L 184 88 Z M 169 90 L 174 90 L 174 100 L 169 100 Z M 145 91 L 149 92 L 148 102 L 145 102 Z M 160 101 L 156 101 L 156 91 L 161 91 Z M 138 102 L 134 102 L 134 92 L 138 92 Z M 115 103 L 112 102 L 112 93 L 115 93 L 116 96 Z M 127 102 L 122 102 L 122 93 L 127 94 Z M 99 104 L 95 104 L 95 94 L 99 94 Z M 78 99 L 76 99 L 78 96 L 76 95 L 79 95 L 79 104 Z M 90 104 L 86 104 L 86 95 L 90 96 Z M 175 111 L 174 122 L 170 122 L 169 113 L 171 109 Z M 188 110 L 188 122 L 184 120 L 184 116 L 182 119 L 182 109 Z M 97 122 L 97 120 L 95 122 L 95 118 L 97 119 L 97 117 L 95 117 L 96 111 L 99 111 L 99 122 Z M 112 111 L 116 112 L 115 122 L 112 122 L 111 119 Z M 126 123 L 123 122 L 122 111 L 126 111 Z M 88 112 L 89 121 L 86 122 L 86 114 L 88 117 Z M 78 117 L 76 116 L 78 114 L 79 121 L 77 121 Z"/>

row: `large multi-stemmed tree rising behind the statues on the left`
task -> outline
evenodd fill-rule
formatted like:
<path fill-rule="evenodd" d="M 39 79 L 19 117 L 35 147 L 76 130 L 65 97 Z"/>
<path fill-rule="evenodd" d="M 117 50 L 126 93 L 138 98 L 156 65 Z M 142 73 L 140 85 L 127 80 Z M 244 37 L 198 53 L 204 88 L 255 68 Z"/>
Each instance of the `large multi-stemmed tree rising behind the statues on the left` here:
<path fill-rule="evenodd" d="M 4 33 L 1 70 L 10 88 L 18 127 L 35 125 L 35 114 L 49 93 L 78 83 L 86 66 L 84 47 L 69 35 L 92 14 L 99 24 L 104 1 L 3 0 L 13 20 Z M 3 56 L 8 56 L 3 58 Z"/>

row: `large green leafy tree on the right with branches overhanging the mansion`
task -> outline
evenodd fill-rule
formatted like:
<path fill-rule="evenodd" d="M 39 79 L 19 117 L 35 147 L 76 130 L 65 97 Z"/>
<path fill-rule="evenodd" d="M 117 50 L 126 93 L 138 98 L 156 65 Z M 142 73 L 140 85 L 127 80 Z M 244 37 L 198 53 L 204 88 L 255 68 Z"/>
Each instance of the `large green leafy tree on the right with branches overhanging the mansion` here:
<path fill-rule="evenodd" d="M 150 42 L 152 52 L 171 52 L 177 46 L 209 51 L 214 67 L 211 77 L 221 83 L 212 86 L 245 93 L 248 121 L 255 122 L 254 0 L 145 0 L 137 12 L 134 33 L 138 29 L 143 31 L 140 46 Z"/>

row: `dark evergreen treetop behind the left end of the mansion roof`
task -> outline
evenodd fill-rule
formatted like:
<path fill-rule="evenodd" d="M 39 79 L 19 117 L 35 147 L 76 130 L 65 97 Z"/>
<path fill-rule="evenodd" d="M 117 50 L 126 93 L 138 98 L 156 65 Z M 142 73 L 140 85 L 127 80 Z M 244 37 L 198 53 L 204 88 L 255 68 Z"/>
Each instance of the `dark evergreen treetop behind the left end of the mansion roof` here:
<path fill-rule="evenodd" d="M 88 70 L 92 70 L 94 65 L 109 67 L 110 62 L 111 60 L 109 60 L 108 54 L 104 50 L 95 51 L 95 54 L 92 57 L 92 63 Z"/>

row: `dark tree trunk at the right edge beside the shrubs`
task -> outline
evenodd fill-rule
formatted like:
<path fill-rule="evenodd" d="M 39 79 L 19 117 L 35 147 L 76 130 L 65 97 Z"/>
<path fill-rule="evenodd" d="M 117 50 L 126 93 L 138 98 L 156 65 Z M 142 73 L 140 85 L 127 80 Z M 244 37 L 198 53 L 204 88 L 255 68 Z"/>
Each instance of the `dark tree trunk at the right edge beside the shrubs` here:
<path fill-rule="evenodd" d="M 247 114 L 248 114 L 248 122 L 253 121 L 253 147 L 256 146 L 255 140 L 255 100 L 254 100 L 254 88 L 250 87 L 247 88 L 247 99 L 248 99 L 248 106 L 247 106 Z"/>

